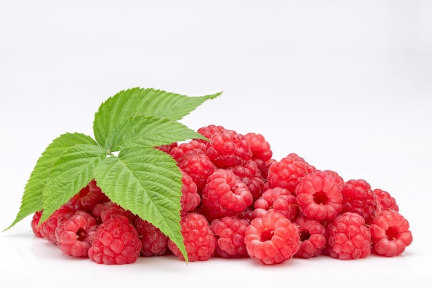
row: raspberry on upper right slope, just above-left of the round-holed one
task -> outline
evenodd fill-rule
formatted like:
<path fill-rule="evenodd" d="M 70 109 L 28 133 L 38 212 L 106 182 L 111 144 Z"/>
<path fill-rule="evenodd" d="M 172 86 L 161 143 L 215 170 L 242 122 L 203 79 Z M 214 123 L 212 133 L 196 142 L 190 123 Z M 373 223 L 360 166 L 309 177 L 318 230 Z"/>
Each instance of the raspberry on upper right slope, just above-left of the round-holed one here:
<path fill-rule="evenodd" d="M 268 183 L 270 188 L 281 187 L 294 194 L 295 187 L 307 173 L 308 163 L 291 153 L 268 167 Z"/>

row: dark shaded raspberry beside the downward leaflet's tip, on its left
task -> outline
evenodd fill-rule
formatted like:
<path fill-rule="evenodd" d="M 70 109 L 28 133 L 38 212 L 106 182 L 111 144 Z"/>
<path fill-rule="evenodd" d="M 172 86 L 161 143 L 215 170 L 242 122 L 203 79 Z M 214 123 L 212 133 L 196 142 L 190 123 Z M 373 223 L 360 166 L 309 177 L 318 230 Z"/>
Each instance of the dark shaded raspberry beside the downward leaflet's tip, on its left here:
<path fill-rule="evenodd" d="M 137 218 L 134 226 L 142 243 L 142 256 L 162 255 L 168 250 L 168 237 L 155 225 L 142 218 Z"/>

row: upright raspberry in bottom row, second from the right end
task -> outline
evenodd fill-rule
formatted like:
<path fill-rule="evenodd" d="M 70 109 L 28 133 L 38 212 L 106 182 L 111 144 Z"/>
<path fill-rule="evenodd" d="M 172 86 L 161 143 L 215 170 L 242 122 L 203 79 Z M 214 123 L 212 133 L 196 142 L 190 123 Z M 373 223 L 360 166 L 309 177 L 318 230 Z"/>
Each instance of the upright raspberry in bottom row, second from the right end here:
<path fill-rule="evenodd" d="M 351 260 L 365 258 L 371 253 L 371 233 L 364 218 L 354 212 L 345 212 L 327 227 L 328 249 L 332 258 Z"/>

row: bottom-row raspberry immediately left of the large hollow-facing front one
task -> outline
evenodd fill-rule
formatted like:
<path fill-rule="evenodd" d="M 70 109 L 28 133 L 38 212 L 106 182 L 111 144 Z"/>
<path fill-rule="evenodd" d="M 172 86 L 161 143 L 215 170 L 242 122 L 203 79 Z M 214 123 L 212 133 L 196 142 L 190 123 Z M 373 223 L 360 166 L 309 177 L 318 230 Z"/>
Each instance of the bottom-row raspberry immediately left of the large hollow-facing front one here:
<path fill-rule="evenodd" d="M 215 233 L 217 239 L 215 255 L 221 258 L 247 257 L 244 235 L 248 226 L 248 220 L 235 216 L 213 220 L 210 229 Z"/>

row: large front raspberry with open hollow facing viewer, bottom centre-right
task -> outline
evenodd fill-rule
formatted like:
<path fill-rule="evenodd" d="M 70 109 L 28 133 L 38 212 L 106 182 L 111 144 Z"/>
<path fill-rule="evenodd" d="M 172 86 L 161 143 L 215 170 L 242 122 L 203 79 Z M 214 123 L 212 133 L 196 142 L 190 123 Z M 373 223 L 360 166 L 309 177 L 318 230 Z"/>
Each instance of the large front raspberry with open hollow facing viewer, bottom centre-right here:
<path fill-rule="evenodd" d="M 281 213 L 268 212 L 255 218 L 246 228 L 246 251 L 264 265 L 274 265 L 293 258 L 299 248 L 297 225 Z"/>

